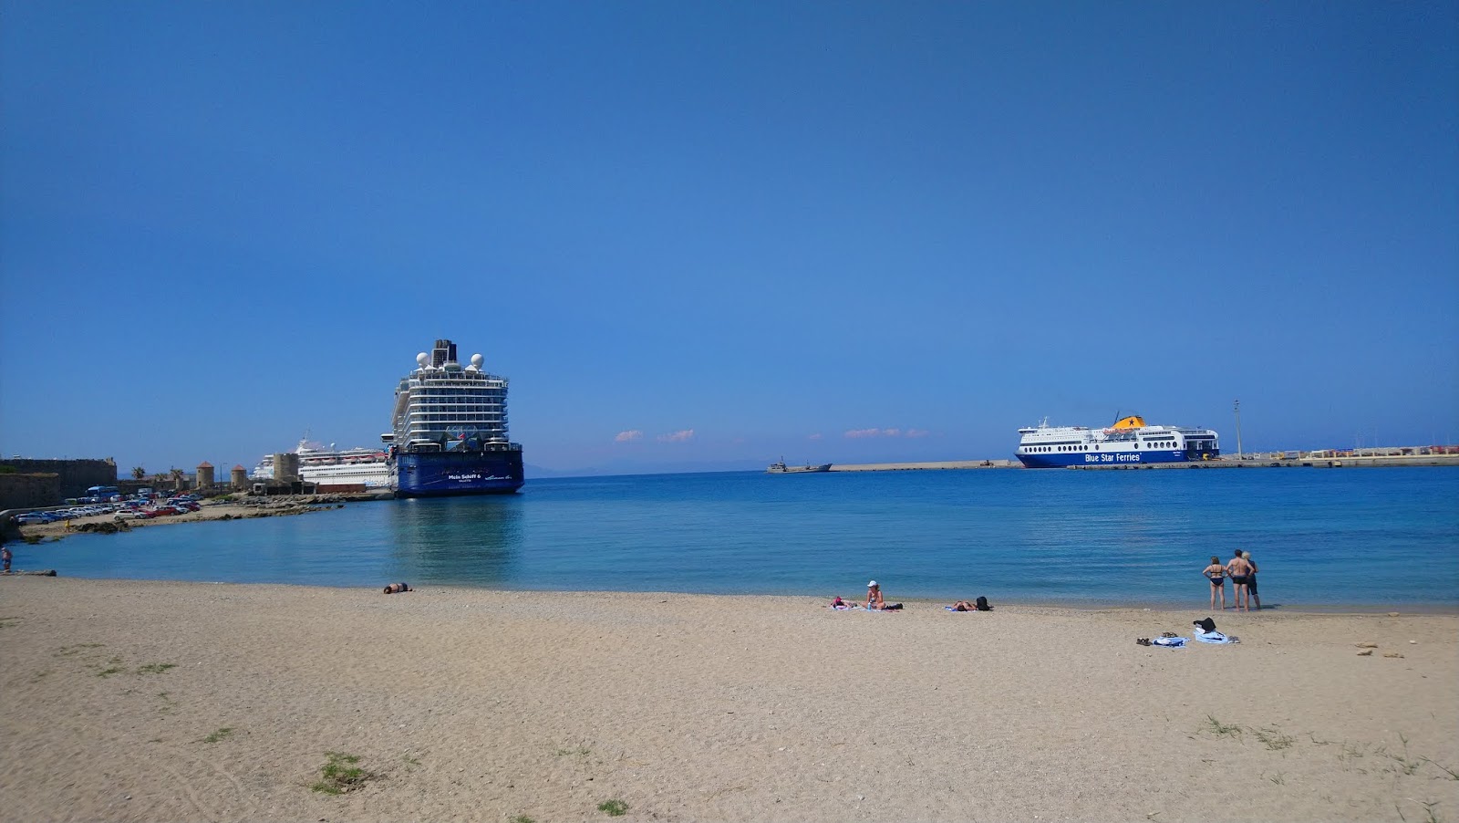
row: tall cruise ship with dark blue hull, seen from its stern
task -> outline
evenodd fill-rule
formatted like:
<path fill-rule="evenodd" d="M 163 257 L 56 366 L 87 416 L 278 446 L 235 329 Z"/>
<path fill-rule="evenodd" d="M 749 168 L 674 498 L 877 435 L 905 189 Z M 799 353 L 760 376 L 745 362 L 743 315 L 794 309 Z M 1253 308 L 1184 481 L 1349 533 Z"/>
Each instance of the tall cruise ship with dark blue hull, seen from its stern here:
<path fill-rule="evenodd" d="M 502 495 L 522 487 L 522 447 L 506 436 L 506 378 L 463 366 L 455 343 L 436 340 L 395 388 L 388 447 L 400 498 Z"/>

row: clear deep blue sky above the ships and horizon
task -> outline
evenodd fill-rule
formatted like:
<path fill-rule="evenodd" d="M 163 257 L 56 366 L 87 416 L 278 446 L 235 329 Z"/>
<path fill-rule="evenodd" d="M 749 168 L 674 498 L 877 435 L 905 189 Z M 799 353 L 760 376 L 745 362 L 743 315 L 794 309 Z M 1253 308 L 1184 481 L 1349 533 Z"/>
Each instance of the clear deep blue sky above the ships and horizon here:
<path fill-rule="evenodd" d="M 1456 3 L 0 1 L 0 451 L 1459 441 Z M 530 471 L 531 476 L 531 471 Z"/>

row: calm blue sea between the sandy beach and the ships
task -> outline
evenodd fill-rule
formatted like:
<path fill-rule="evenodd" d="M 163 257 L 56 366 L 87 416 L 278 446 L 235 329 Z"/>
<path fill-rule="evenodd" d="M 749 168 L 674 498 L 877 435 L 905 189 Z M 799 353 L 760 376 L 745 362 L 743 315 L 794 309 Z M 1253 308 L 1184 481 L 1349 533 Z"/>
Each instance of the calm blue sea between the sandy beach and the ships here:
<path fill-rule="evenodd" d="M 77 578 L 1199 608 L 1247 550 L 1263 607 L 1456 611 L 1459 467 L 543 479 L 13 547 Z"/>

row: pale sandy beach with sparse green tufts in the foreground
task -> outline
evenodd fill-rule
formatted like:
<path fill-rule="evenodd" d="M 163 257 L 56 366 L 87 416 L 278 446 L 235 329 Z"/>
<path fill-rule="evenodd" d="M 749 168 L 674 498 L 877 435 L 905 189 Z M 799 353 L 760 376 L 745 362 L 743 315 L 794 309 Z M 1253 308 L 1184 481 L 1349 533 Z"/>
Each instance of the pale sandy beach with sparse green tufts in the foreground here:
<path fill-rule="evenodd" d="M 10 576 L 0 820 L 1459 819 L 1459 617 L 1204 616 Z"/>

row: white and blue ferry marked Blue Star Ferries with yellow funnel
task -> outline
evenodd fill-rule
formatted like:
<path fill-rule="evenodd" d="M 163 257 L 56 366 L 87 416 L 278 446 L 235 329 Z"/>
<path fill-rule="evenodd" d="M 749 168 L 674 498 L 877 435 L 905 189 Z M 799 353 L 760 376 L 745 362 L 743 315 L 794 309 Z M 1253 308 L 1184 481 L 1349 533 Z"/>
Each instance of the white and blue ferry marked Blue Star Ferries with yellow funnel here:
<path fill-rule="evenodd" d="M 1068 465 L 1135 465 L 1212 460 L 1221 454 L 1211 429 L 1147 426 L 1139 414 L 1128 414 L 1107 429 L 1087 426 L 1037 426 L 1018 429 L 1018 460 L 1029 468 Z"/>

